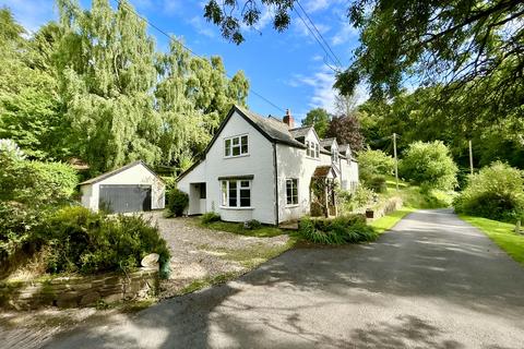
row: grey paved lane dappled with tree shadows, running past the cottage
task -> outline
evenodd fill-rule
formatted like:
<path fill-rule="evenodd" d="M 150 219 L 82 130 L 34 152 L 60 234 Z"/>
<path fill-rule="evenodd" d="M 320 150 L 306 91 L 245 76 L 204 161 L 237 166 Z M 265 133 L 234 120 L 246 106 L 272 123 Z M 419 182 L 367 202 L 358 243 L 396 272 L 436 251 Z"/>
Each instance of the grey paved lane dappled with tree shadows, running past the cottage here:
<path fill-rule="evenodd" d="M 377 243 L 291 250 L 49 348 L 523 348 L 524 269 L 449 210 Z"/>

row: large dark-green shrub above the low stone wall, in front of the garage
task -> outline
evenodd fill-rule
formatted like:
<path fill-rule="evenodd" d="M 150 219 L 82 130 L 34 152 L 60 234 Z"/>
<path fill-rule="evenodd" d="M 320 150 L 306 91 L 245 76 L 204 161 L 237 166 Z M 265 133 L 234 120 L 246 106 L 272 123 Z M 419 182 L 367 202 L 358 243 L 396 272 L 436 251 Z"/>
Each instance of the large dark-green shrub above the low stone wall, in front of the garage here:
<path fill-rule="evenodd" d="M 158 229 L 138 216 L 108 217 L 84 207 L 66 207 L 46 221 L 39 238 L 55 251 L 47 261 L 53 274 L 127 272 L 150 253 L 159 254 L 163 269 L 169 262 Z"/>

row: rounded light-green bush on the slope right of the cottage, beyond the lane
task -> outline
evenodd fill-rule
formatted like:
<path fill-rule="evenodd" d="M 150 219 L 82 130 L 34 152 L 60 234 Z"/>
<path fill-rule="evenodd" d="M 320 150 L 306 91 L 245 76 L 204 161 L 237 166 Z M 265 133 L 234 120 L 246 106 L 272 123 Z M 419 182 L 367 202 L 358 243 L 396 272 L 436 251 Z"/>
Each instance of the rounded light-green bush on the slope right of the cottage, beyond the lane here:
<path fill-rule="evenodd" d="M 398 164 L 398 171 L 426 189 L 452 190 L 457 184 L 458 168 L 441 141 L 412 143 Z"/>

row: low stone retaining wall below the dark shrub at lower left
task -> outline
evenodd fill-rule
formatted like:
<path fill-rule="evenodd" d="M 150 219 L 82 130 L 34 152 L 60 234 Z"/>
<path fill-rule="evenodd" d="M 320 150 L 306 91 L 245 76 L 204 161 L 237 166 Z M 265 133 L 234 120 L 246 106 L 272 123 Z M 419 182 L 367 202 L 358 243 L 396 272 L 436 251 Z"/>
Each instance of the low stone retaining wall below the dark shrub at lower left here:
<path fill-rule="evenodd" d="M 45 305 L 76 308 L 143 299 L 156 294 L 158 268 L 140 268 L 127 275 L 56 277 L 41 280 L 0 284 L 0 306 L 35 309 Z"/>

